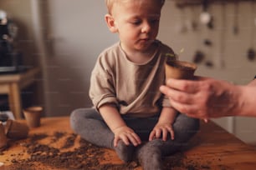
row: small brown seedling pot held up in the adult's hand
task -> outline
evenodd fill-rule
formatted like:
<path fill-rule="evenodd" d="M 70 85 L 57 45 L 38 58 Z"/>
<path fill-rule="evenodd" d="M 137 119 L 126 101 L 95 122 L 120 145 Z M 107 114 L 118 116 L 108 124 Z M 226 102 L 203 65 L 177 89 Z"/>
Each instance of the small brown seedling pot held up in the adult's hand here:
<path fill-rule="evenodd" d="M 165 64 L 166 79 L 193 79 L 197 65 L 192 62 L 167 61 Z"/>

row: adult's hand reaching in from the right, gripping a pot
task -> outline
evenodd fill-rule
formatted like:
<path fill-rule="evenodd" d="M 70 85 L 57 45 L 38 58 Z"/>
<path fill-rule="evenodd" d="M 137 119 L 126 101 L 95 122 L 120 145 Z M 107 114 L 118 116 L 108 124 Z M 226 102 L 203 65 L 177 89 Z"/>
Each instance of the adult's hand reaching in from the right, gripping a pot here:
<path fill-rule="evenodd" d="M 169 79 L 160 90 L 169 97 L 172 107 L 190 117 L 232 116 L 242 105 L 241 87 L 210 77 Z"/>

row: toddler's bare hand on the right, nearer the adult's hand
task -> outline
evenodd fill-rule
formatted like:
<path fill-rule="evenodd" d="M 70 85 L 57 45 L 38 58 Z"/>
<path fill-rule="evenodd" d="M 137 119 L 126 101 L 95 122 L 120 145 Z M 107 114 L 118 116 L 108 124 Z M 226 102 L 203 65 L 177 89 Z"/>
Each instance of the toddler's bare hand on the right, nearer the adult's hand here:
<path fill-rule="evenodd" d="M 174 131 L 171 123 L 157 123 L 155 128 L 151 131 L 149 141 L 154 138 L 161 138 L 163 141 L 167 140 L 168 133 L 171 134 L 172 140 L 174 139 Z"/>

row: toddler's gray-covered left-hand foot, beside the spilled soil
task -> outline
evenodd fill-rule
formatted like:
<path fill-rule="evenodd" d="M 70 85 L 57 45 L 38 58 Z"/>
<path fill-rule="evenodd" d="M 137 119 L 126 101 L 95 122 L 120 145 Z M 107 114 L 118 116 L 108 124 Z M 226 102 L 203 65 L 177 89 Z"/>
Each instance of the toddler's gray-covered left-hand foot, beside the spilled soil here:
<path fill-rule="evenodd" d="M 117 153 L 118 157 L 125 163 L 131 162 L 133 158 L 133 153 L 135 147 L 130 145 L 125 145 L 123 141 L 119 141 L 117 143 L 117 147 L 113 147 L 115 149 L 115 153 Z"/>

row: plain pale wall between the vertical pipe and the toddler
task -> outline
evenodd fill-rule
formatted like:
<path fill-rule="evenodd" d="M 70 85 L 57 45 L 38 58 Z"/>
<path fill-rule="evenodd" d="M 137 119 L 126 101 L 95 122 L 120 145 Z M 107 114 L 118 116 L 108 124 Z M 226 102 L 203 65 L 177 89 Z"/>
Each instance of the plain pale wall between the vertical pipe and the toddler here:
<path fill-rule="evenodd" d="M 101 1 L 47 1 L 43 17 L 48 24 L 44 28 L 48 116 L 69 115 L 76 108 L 92 106 L 90 72 L 100 52 L 117 41 L 105 25 L 105 13 Z"/>

